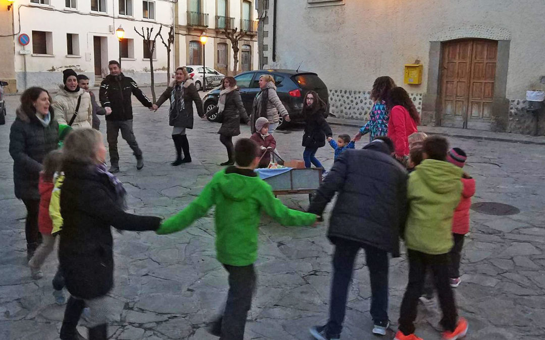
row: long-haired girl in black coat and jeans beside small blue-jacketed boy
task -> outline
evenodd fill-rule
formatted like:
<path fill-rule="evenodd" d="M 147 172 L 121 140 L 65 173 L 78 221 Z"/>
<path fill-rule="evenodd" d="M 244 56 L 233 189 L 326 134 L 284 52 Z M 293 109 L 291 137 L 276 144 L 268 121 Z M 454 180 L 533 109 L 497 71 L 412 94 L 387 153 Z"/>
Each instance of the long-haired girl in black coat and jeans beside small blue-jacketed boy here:
<path fill-rule="evenodd" d="M 305 147 L 303 152 L 305 167 L 310 168 L 312 163 L 316 168 L 323 168 L 322 163 L 314 155 L 319 147 L 325 145 L 325 139 L 332 137 L 333 133 L 324 118 L 326 115 L 325 103 L 320 100 L 316 92 L 308 91 L 305 95 L 301 115 L 306 123 L 302 140 L 302 146 Z"/>

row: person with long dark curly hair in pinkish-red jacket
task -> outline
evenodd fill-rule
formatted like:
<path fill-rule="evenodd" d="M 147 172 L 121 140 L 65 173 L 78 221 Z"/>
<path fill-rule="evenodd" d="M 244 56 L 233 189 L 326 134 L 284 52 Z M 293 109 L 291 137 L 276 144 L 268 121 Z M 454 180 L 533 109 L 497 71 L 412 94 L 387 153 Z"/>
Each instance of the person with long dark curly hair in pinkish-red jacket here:
<path fill-rule="evenodd" d="M 418 132 L 420 116 L 409 94 L 402 87 L 390 90 L 386 106 L 390 110 L 388 137 L 393 141 L 396 159 L 404 163 L 409 156 L 409 136 Z"/>

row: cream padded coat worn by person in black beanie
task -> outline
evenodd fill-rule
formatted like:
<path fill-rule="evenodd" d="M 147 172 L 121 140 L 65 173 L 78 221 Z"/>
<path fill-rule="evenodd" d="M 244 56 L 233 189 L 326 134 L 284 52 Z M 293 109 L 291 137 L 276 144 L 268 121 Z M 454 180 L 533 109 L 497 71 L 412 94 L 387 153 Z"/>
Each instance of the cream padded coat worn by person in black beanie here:
<path fill-rule="evenodd" d="M 77 100 L 81 95 L 80 108 L 77 110 L 77 116 L 72 123 L 72 128 L 92 127 L 93 126 L 93 105 L 91 96 L 83 89 L 77 92 L 68 92 L 64 85 L 59 85 L 59 92 L 53 98 L 51 106 L 55 109 L 55 120 L 59 124 L 68 125 L 74 112 L 76 112 Z"/>

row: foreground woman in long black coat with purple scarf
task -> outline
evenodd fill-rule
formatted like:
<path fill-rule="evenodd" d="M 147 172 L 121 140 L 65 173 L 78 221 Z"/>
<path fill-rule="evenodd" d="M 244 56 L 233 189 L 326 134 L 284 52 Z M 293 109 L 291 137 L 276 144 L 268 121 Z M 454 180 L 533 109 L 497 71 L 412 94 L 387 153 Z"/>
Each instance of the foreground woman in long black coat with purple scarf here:
<path fill-rule="evenodd" d="M 60 339 L 77 338 L 76 326 L 85 306 L 90 309 L 89 340 L 107 337 L 105 296 L 113 287 L 111 226 L 120 230 L 157 230 L 161 219 L 124 211 L 125 190 L 104 165 L 106 148 L 100 132 L 76 129 L 63 146 L 64 182 L 60 188 L 59 264 L 70 299 Z"/>

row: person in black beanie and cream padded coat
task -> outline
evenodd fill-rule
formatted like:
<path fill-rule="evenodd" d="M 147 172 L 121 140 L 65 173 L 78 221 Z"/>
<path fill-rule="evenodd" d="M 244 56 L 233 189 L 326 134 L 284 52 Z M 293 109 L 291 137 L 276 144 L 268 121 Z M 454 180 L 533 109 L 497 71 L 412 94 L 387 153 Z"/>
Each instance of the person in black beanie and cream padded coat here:
<path fill-rule="evenodd" d="M 78 98 L 81 96 L 80 107 L 72 123 L 73 128 L 92 127 L 93 106 L 88 92 L 77 85 L 77 73 L 72 69 L 63 71 L 63 83 L 58 94 L 53 98 L 52 107 L 55 110 L 55 120 L 59 124 L 68 125 L 76 112 Z"/>

